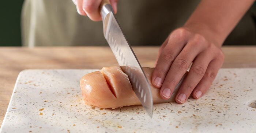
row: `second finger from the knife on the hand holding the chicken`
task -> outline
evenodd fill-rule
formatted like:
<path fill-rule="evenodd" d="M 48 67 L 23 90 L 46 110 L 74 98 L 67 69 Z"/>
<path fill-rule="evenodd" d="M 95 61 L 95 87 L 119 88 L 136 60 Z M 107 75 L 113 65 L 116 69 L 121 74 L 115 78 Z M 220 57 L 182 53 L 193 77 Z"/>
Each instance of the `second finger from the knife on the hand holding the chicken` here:
<path fill-rule="evenodd" d="M 195 57 L 199 55 L 199 53 L 207 48 L 205 43 L 204 38 L 199 35 L 195 35 L 182 49 L 180 54 L 173 61 L 173 64 L 170 67 L 165 80 L 163 81 L 163 85 L 160 90 L 160 94 L 163 99 L 170 98 L 174 88 L 181 80 L 182 76 L 187 72 L 189 65 L 192 63 Z"/>

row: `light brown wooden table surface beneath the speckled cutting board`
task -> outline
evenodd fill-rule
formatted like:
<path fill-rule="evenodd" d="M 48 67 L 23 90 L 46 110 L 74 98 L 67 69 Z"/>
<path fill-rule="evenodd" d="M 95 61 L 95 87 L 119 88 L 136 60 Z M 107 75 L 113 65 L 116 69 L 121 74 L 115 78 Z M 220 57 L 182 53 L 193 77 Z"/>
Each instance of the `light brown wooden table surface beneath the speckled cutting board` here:
<path fill-rule="evenodd" d="M 154 67 L 159 47 L 133 47 L 142 66 Z M 256 67 L 256 47 L 222 47 L 222 68 Z M 24 69 L 101 69 L 118 65 L 108 47 L 0 47 L 0 125 L 16 78 Z"/>

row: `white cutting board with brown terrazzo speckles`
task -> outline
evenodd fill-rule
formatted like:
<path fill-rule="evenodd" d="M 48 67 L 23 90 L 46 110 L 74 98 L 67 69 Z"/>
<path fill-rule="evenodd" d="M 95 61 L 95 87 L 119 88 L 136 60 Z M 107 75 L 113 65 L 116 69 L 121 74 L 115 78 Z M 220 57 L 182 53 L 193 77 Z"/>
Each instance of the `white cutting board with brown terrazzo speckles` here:
<path fill-rule="evenodd" d="M 99 109 L 85 105 L 79 80 L 93 71 L 23 70 L 0 132 L 256 133 L 256 68 L 221 69 L 202 98 L 189 98 L 182 105 L 156 104 L 153 118 L 142 106 Z"/>

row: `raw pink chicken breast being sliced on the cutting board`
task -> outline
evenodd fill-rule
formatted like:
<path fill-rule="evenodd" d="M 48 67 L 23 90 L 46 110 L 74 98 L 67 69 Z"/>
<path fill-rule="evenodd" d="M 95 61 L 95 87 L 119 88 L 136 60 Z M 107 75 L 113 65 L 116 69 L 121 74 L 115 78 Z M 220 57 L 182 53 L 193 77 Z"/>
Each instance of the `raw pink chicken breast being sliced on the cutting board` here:
<path fill-rule="evenodd" d="M 154 68 L 143 67 L 143 70 L 151 86 L 153 103 L 174 101 L 174 96 L 181 82 L 176 86 L 171 98 L 164 100 L 159 95 L 160 89 L 151 84 L 150 79 Z M 112 109 L 122 106 L 141 105 L 132 90 L 127 74 L 122 71 L 120 66 L 105 67 L 102 68 L 101 72 L 96 71 L 84 75 L 80 80 L 80 88 L 83 100 L 87 105 Z"/>

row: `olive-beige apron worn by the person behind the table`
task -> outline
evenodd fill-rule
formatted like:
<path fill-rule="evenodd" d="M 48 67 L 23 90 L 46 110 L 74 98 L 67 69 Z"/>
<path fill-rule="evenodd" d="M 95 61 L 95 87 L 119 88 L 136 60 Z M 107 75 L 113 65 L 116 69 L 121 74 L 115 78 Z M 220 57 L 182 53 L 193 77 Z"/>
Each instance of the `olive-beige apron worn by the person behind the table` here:
<path fill-rule="evenodd" d="M 131 45 L 161 45 L 184 25 L 200 0 L 119 0 L 116 15 Z M 251 10 L 250 10 L 251 11 Z M 251 12 L 225 41 L 256 44 Z M 102 22 L 78 15 L 72 0 L 25 0 L 22 10 L 23 46 L 107 45 Z"/>

